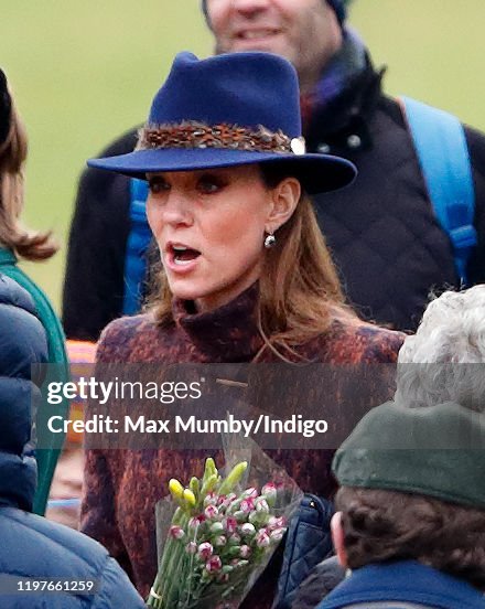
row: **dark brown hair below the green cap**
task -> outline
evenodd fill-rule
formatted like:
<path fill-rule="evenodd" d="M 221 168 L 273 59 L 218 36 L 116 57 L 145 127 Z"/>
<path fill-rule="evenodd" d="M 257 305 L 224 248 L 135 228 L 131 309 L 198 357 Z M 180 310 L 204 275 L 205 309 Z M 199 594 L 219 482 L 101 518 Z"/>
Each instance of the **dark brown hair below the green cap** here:
<path fill-rule="evenodd" d="M 352 569 L 414 559 L 485 591 L 485 510 L 398 491 L 343 487 L 344 546 Z"/>

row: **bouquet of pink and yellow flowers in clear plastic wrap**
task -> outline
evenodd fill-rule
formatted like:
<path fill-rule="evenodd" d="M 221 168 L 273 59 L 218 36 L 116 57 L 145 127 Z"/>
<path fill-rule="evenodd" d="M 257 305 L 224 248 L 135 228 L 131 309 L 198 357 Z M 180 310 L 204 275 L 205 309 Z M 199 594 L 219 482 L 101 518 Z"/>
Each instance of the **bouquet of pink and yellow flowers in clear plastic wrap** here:
<path fill-rule="evenodd" d="M 147 605 L 236 609 L 287 532 L 303 493 L 254 441 L 225 437 L 222 476 L 170 481 L 155 506 L 159 568 Z"/>

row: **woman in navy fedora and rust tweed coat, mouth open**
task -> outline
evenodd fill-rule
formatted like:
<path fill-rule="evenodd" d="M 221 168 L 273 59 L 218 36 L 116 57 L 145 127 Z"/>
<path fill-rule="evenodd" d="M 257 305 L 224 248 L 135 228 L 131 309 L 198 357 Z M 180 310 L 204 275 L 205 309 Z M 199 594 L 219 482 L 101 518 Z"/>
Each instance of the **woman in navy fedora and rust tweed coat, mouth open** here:
<path fill-rule="evenodd" d="M 284 100 L 284 104 L 280 100 Z M 157 93 L 137 149 L 91 167 L 148 180 L 161 287 L 147 312 L 104 331 L 98 362 L 394 362 L 402 334 L 344 303 L 309 194 L 352 182 L 355 168 L 306 154 L 297 74 L 285 60 L 181 53 Z M 328 451 L 274 459 L 304 491 L 335 489 Z M 202 450 L 88 450 L 83 531 L 106 545 L 147 596 L 157 570 L 154 504 L 170 478 L 201 473 Z M 277 575 L 244 607 L 269 608 Z"/>

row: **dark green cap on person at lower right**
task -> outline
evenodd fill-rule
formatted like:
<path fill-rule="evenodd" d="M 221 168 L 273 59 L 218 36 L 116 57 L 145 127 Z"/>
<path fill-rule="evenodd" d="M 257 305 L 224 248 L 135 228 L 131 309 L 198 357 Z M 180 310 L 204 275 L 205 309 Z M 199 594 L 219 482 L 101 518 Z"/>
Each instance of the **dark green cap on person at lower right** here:
<path fill-rule="evenodd" d="M 429 495 L 485 509 L 485 415 L 452 403 L 373 408 L 335 453 L 343 487 Z"/>

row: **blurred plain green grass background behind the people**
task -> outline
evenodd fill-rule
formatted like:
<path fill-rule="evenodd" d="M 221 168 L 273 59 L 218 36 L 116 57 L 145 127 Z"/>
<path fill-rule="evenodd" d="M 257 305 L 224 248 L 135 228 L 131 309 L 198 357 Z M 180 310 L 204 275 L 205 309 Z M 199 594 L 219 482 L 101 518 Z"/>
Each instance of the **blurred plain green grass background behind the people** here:
<path fill-rule="evenodd" d="M 143 120 L 177 51 L 206 56 L 212 39 L 198 0 L 0 0 L 0 65 L 30 136 L 24 220 L 63 246 L 24 268 L 58 310 L 85 160 Z M 388 92 L 485 129 L 484 0 L 355 0 L 351 23 L 388 65 Z"/>

